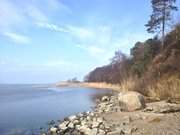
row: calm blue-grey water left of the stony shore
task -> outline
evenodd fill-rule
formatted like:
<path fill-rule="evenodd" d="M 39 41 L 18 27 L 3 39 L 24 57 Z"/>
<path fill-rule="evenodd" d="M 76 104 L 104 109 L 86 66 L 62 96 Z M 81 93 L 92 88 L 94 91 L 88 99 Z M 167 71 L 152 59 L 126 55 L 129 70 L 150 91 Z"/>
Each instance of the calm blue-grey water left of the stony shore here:
<path fill-rule="evenodd" d="M 0 135 L 32 135 L 51 120 L 91 110 L 93 97 L 109 91 L 0 85 Z"/>

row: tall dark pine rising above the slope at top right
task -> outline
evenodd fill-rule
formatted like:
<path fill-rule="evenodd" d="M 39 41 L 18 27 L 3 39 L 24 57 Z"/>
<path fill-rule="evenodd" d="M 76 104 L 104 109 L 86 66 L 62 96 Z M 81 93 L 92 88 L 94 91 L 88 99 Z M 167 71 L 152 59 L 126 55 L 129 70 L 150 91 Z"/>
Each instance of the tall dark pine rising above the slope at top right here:
<path fill-rule="evenodd" d="M 152 0 L 152 15 L 145 25 L 149 33 L 162 32 L 162 47 L 164 47 L 165 30 L 171 20 L 171 12 L 177 11 L 176 0 Z"/>

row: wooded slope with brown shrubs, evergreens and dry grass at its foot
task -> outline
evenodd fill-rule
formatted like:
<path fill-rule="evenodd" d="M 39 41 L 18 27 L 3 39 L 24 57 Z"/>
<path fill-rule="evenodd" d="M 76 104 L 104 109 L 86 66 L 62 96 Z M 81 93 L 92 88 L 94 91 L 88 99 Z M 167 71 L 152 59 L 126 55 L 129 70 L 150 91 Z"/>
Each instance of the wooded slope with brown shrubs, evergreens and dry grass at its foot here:
<path fill-rule="evenodd" d="M 122 90 L 147 96 L 180 98 L 180 24 L 165 36 L 164 47 L 157 37 L 137 42 L 131 56 L 115 52 L 110 64 L 98 67 L 86 82 L 119 84 Z"/>

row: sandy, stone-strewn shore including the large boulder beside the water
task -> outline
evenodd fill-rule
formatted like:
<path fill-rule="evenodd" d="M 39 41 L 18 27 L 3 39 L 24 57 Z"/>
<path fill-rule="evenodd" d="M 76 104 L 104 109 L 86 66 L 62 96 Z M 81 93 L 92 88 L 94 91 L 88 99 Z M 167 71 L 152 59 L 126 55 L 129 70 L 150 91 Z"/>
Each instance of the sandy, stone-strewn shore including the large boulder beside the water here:
<path fill-rule="evenodd" d="M 137 92 L 97 99 L 93 112 L 65 118 L 44 135 L 178 135 L 180 104 L 145 103 Z"/>

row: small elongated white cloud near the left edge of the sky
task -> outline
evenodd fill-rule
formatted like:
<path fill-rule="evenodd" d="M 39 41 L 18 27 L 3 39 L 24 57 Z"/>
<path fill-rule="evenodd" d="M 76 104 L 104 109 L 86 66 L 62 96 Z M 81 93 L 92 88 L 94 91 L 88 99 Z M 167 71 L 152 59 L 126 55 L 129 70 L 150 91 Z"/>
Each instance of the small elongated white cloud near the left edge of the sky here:
<path fill-rule="evenodd" d="M 20 44 L 28 44 L 31 41 L 29 37 L 25 35 L 13 33 L 13 32 L 5 32 L 4 36 L 11 39 L 13 42 L 20 43 Z"/>

